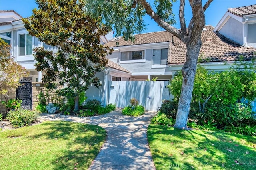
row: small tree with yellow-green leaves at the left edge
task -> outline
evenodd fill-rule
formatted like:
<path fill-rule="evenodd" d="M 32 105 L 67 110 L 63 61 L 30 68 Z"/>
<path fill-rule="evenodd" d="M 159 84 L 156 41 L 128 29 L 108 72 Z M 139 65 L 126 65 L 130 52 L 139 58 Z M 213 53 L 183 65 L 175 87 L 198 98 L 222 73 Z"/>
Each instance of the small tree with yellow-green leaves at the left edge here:
<path fill-rule="evenodd" d="M 28 76 L 26 68 L 14 61 L 10 56 L 10 45 L 0 38 L 0 94 L 8 102 L 8 92 L 14 91 L 19 85 L 19 79 Z M 7 111 L 7 108 L 6 108 Z"/>

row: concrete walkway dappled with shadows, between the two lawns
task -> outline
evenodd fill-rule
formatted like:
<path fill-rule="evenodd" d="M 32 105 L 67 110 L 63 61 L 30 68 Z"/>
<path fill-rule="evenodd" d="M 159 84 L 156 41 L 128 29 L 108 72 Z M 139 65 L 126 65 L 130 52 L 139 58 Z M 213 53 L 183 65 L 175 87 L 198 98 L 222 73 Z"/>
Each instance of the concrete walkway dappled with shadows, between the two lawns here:
<path fill-rule="evenodd" d="M 148 146 L 147 128 L 156 112 L 146 111 L 139 117 L 122 115 L 116 110 L 93 117 L 42 115 L 45 120 L 62 120 L 99 125 L 107 138 L 90 170 L 155 170 Z"/>

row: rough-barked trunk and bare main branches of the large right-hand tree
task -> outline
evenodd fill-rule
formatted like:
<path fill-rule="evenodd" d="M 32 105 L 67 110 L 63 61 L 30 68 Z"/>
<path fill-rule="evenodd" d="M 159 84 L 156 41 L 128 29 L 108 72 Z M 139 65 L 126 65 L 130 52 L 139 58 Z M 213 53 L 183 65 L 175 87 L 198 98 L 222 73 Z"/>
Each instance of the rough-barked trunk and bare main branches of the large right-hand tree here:
<path fill-rule="evenodd" d="M 151 18 L 153 18 L 154 21 L 159 24 L 159 26 L 161 26 L 174 36 L 180 38 L 180 40 L 182 40 L 182 42 L 185 43 L 187 47 L 186 62 L 182 67 L 182 89 L 180 100 L 178 103 L 176 122 L 174 125 L 174 127 L 176 128 L 188 130 L 186 125 L 192 99 L 194 77 L 196 74 L 196 64 L 202 45 L 201 33 L 205 25 L 204 11 L 209 7 L 212 1 L 213 0 L 207 0 L 204 6 L 202 6 L 202 0 L 189 0 L 189 4 L 192 8 L 193 17 L 190 20 L 187 29 L 184 18 L 185 0 L 180 0 L 179 18 L 181 29 L 178 30 L 177 28 L 170 26 L 167 22 L 162 20 L 162 18 L 154 12 L 154 10 L 151 8 L 150 4 L 146 2 L 146 0 L 138 0 L 138 2 L 140 2 L 140 4 L 145 8 L 146 13 Z"/>

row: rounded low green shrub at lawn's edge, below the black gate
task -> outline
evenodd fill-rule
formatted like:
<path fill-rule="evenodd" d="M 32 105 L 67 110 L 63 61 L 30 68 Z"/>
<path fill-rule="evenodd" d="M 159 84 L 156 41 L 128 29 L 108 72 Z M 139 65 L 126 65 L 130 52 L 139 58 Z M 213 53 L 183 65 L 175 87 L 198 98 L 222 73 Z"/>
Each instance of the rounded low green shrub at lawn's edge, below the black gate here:
<path fill-rule="evenodd" d="M 34 123 L 38 118 L 38 116 L 39 116 L 39 113 L 35 111 L 19 108 L 17 110 L 9 111 L 6 119 L 10 121 L 10 123 L 14 128 L 17 128 L 17 127 L 23 127 L 25 125 L 30 125 L 31 123 Z"/>

